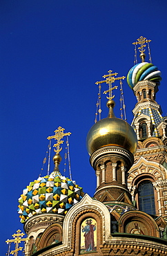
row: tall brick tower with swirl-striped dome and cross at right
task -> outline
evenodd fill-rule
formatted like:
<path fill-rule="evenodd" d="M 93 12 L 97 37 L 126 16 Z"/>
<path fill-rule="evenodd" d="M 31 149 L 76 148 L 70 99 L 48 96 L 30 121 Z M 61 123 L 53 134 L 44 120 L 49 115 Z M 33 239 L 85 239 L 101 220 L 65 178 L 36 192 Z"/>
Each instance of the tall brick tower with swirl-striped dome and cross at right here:
<path fill-rule="evenodd" d="M 133 43 L 135 46 L 140 45 L 141 63 L 133 66 L 127 76 L 128 85 L 137 98 L 132 111 L 132 127 L 138 140 L 135 164 L 129 171 L 128 188 L 137 209 L 166 217 L 167 117 L 161 116 L 161 107 L 155 101 L 161 72 L 157 66 L 145 61 L 145 47 L 149 42 L 145 37 L 139 37 Z"/>

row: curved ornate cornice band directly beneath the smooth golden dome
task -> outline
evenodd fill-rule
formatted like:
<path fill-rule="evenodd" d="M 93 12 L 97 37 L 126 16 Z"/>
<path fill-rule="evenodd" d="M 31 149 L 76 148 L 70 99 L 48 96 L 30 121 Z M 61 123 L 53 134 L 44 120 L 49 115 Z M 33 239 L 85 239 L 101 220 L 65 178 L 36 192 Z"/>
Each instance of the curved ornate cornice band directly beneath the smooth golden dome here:
<path fill-rule="evenodd" d="M 130 165 L 132 165 L 134 161 L 133 155 L 126 149 L 122 147 L 117 147 L 117 146 L 107 146 L 107 147 L 102 147 L 101 149 L 98 149 L 96 152 L 94 152 L 90 156 L 90 164 L 92 167 L 95 169 L 96 162 L 99 160 L 99 158 L 102 158 L 104 156 L 108 155 L 115 155 L 115 156 L 122 156 L 123 158 L 128 159 L 130 161 Z"/>

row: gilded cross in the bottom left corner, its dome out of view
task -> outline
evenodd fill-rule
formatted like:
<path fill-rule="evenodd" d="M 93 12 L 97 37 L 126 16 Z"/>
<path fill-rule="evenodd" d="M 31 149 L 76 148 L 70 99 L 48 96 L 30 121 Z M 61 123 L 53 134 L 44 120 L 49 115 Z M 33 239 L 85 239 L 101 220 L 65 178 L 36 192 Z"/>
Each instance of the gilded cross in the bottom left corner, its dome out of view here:
<path fill-rule="evenodd" d="M 19 247 L 19 244 L 21 243 L 21 241 L 28 241 L 29 240 L 29 238 L 21 238 L 21 237 L 23 237 L 23 235 L 25 235 L 25 234 L 23 232 L 21 233 L 21 230 L 17 230 L 17 234 L 12 235 L 12 237 L 14 237 L 14 239 L 7 239 L 6 240 L 7 244 L 10 244 L 12 242 L 14 242 L 14 244 L 16 244 L 15 249 L 12 250 L 10 252 L 10 254 L 12 254 L 14 256 L 17 256 L 18 251 L 23 249 L 23 247 Z"/>

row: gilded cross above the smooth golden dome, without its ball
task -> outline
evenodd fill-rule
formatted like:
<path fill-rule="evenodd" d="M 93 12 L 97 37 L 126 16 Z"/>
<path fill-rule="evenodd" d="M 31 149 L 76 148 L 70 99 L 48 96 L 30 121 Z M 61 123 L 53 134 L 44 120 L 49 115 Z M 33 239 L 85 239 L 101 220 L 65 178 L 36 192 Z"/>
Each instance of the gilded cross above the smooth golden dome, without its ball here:
<path fill-rule="evenodd" d="M 102 80 L 99 82 L 95 82 L 95 84 L 102 84 L 104 82 L 106 82 L 106 84 L 108 84 L 109 89 L 107 91 L 104 91 L 104 94 L 108 93 L 108 97 L 106 97 L 108 100 L 112 100 L 113 98 L 115 98 L 115 95 L 112 95 L 112 90 L 117 89 L 118 86 L 114 86 L 112 87 L 112 83 L 115 82 L 115 80 L 121 80 L 121 79 L 125 79 L 125 76 L 122 77 L 115 77 L 118 73 L 112 73 L 111 70 L 108 71 L 108 75 L 104 75 L 103 77 L 106 78 L 106 80 Z"/>

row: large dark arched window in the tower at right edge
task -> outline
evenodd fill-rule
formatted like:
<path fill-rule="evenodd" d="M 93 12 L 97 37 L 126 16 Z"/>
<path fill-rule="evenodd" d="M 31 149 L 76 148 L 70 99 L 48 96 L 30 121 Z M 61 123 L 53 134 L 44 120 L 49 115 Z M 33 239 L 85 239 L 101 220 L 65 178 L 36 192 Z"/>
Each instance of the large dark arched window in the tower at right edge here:
<path fill-rule="evenodd" d="M 155 214 L 155 196 L 153 184 L 150 181 L 144 181 L 139 184 L 139 210 L 148 214 Z"/>

